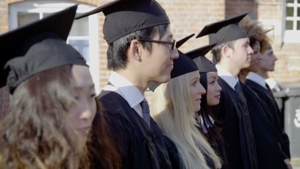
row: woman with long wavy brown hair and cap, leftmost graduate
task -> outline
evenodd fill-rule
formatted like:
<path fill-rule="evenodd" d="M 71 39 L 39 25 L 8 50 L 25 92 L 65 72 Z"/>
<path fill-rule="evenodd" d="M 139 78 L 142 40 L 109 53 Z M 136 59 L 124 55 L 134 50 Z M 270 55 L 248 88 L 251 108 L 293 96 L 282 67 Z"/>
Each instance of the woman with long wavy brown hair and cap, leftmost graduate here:
<path fill-rule="evenodd" d="M 76 8 L 0 36 L 0 87 L 13 96 L 0 169 L 118 168 L 88 66 L 66 43 Z"/>

